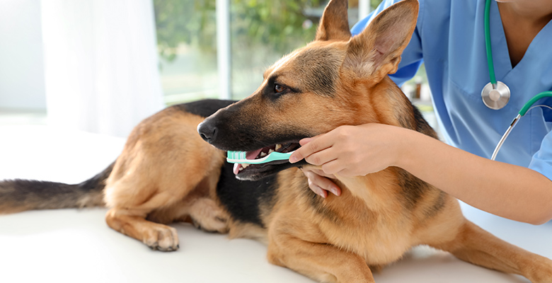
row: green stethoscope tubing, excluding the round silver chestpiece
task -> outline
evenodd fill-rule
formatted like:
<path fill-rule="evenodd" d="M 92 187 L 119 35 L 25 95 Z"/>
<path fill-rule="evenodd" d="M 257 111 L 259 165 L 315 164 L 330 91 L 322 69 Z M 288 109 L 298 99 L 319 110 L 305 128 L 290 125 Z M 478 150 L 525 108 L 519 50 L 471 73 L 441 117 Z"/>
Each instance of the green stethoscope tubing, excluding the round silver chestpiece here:
<path fill-rule="evenodd" d="M 486 0 L 486 2 L 485 2 L 485 19 L 484 19 L 485 20 L 484 21 L 484 25 L 485 25 L 485 50 L 487 51 L 487 64 L 488 64 L 488 67 L 489 67 L 490 83 L 492 83 L 493 87 L 495 87 L 496 84 L 497 84 L 497 81 L 496 81 L 496 77 L 495 77 L 495 66 L 493 64 L 493 52 L 491 51 L 491 48 L 490 48 L 490 24 L 489 24 L 490 1 L 491 0 Z M 525 103 L 523 105 L 522 109 L 519 110 L 517 116 L 514 118 L 512 123 L 510 123 L 510 127 L 508 127 L 508 129 L 506 129 L 506 132 L 502 135 L 502 138 L 500 138 L 500 141 L 498 141 L 498 144 L 495 147 L 495 151 L 493 151 L 493 156 L 491 156 L 490 160 L 495 160 L 495 158 L 498 154 L 498 151 L 500 150 L 500 147 L 502 146 L 502 144 L 504 143 L 504 141 L 506 140 L 506 138 L 508 137 L 510 132 L 512 132 L 512 129 L 517 124 L 517 121 L 519 120 L 519 118 L 523 117 L 527 113 L 527 111 L 532 109 L 531 106 L 534 103 L 536 103 L 537 100 L 539 100 L 541 98 L 546 98 L 546 97 L 552 97 L 552 91 L 543 91 L 543 92 L 537 94 L 536 96 L 534 96 L 533 98 L 529 99 L 529 101 L 527 101 L 527 103 Z"/>

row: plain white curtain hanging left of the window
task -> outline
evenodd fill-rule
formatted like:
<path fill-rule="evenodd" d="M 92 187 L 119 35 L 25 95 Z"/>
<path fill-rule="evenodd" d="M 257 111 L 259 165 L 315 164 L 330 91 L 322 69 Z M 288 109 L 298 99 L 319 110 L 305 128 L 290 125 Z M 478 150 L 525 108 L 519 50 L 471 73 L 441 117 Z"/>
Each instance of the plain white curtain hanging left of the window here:
<path fill-rule="evenodd" d="M 42 0 L 48 124 L 126 137 L 163 108 L 151 0 Z"/>

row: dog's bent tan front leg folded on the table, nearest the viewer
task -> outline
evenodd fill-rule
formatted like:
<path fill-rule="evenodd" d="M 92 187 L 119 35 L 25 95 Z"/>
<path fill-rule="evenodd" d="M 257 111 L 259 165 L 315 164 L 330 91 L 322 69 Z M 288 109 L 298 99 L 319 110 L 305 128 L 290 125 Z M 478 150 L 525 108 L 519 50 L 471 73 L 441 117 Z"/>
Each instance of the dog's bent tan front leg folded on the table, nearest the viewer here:
<path fill-rule="evenodd" d="M 268 260 L 318 282 L 374 282 L 372 271 L 359 255 L 326 243 L 312 243 L 287 233 L 269 236 Z"/>

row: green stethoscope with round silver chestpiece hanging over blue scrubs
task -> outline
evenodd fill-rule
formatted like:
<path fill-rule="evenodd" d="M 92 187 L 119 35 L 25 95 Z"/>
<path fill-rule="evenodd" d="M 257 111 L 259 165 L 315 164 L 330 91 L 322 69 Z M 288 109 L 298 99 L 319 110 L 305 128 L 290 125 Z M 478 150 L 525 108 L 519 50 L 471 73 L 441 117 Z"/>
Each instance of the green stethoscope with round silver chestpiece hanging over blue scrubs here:
<path fill-rule="evenodd" d="M 502 83 L 502 81 L 497 81 L 495 77 L 495 66 L 493 64 L 493 52 L 490 48 L 490 25 L 489 25 L 489 14 L 490 14 L 490 1 L 486 0 L 485 2 L 485 49 L 487 50 L 487 64 L 489 67 L 489 77 L 490 82 L 483 87 L 483 90 L 481 91 L 481 98 L 483 99 L 483 103 L 485 105 L 493 110 L 500 110 L 504 108 L 508 101 L 510 100 L 510 88 L 506 85 L 506 83 Z M 502 138 L 500 138 L 500 141 L 498 141 L 498 144 L 495 147 L 495 151 L 493 151 L 493 156 L 491 156 L 490 160 L 495 160 L 498 151 L 500 150 L 500 147 L 510 134 L 512 132 L 512 129 L 514 129 L 515 125 L 517 124 L 517 121 L 519 121 L 519 118 L 524 116 L 527 111 L 533 109 L 534 107 L 539 106 L 546 106 L 546 105 L 536 105 L 534 107 L 531 107 L 534 103 L 536 103 L 536 100 L 539 100 L 541 98 L 545 97 L 552 97 L 552 91 L 544 91 L 533 98 L 531 98 L 527 103 L 525 103 L 522 107 L 522 110 L 519 110 L 517 116 L 514 118 L 512 123 L 510 123 L 510 127 L 506 129 L 506 132 L 502 135 Z M 546 106 L 548 107 L 548 106 Z"/>

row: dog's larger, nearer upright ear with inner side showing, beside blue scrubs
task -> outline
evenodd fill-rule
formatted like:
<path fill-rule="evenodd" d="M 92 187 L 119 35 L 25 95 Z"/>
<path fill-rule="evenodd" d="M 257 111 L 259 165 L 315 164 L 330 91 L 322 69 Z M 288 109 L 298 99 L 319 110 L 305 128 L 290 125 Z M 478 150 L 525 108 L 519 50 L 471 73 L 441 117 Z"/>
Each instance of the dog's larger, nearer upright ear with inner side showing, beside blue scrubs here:
<path fill-rule="evenodd" d="M 374 82 L 395 73 L 417 18 L 418 0 L 403 0 L 379 13 L 368 28 L 352 37 L 343 63 L 345 70 Z"/>

